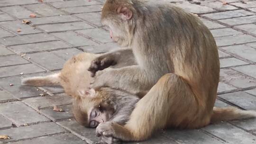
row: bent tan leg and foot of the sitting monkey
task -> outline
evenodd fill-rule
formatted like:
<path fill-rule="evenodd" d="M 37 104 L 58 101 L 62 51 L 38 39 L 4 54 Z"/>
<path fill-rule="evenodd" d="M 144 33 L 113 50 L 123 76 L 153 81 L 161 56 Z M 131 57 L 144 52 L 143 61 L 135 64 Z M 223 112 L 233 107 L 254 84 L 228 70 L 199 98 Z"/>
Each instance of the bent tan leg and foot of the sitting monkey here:
<path fill-rule="evenodd" d="M 169 73 L 139 100 L 126 125 L 102 123 L 96 134 L 123 141 L 146 140 L 155 130 L 190 125 L 197 113 L 198 103 L 189 85 L 178 75 Z"/>

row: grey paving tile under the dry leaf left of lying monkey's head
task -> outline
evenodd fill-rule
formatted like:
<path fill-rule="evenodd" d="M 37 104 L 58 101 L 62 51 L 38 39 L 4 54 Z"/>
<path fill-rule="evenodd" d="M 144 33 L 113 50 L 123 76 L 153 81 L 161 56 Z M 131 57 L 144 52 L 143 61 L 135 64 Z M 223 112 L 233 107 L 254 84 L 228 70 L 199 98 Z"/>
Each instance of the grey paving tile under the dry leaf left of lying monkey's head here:
<path fill-rule="evenodd" d="M 41 109 L 40 112 L 46 115 L 46 117 L 49 117 L 53 121 L 59 121 L 59 120 L 69 119 L 73 117 L 72 105 L 67 105 L 67 106 L 58 107 L 58 108 L 62 108 L 64 112 L 54 111 L 53 107 Z"/>

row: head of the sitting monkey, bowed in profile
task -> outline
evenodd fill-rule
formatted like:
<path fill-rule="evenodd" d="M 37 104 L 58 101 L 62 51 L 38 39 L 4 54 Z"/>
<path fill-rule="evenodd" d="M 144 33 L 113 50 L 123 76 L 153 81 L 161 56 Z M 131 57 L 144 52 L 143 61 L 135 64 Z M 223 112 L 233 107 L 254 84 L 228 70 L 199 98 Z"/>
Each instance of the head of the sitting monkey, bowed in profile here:
<path fill-rule="evenodd" d="M 107 0 L 101 23 L 110 28 L 110 37 L 121 46 L 128 46 L 134 34 L 136 10 L 132 0 Z"/>

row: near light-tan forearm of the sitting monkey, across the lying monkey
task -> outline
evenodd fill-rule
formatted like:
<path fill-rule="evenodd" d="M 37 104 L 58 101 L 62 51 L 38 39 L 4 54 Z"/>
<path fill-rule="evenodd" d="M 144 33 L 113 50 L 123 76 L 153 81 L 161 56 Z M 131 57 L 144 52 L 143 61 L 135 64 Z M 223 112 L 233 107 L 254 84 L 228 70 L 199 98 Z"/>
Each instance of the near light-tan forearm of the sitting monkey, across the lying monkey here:
<path fill-rule="evenodd" d="M 138 65 L 119 69 L 106 69 L 96 73 L 92 88 L 112 87 L 137 94 L 149 90 L 155 84 Z"/>

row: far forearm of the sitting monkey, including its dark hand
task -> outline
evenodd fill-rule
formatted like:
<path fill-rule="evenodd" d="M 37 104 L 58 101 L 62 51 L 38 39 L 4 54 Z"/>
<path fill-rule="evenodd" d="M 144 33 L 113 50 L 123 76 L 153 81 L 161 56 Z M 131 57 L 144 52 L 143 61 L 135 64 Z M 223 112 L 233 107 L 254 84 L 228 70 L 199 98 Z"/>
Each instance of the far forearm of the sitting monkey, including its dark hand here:
<path fill-rule="evenodd" d="M 115 66 L 113 66 L 115 65 Z M 132 49 L 125 48 L 102 54 L 91 62 L 88 71 L 94 77 L 97 71 L 104 70 L 110 66 L 120 68 L 128 65 L 136 65 Z"/>

